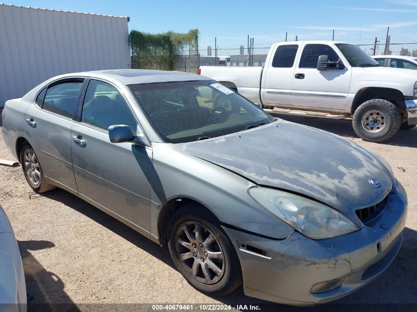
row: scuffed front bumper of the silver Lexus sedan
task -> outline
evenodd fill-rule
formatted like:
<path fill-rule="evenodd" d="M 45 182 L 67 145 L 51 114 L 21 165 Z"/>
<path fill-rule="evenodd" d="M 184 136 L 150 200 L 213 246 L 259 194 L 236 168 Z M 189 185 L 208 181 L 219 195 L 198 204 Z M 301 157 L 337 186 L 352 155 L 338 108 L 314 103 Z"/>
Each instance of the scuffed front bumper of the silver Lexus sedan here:
<path fill-rule="evenodd" d="M 401 247 L 407 196 L 398 187 L 372 225 L 334 239 L 315 241 L 294 231 L 276 241 L 224 227 L 240 259 L 245 294 L 311 306 L 339 299 L 374 280 Z M 334 290 L 310 293 L 317 283 L 343 277 Z"/>

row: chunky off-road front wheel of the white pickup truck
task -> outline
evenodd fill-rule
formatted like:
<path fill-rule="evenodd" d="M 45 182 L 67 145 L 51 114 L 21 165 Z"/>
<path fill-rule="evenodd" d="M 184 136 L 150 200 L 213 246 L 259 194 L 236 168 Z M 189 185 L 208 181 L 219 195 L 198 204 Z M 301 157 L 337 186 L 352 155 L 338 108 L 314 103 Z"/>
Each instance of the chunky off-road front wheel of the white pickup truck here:
<path fill-rule="evenodd" d="M 398 132 L 401 115 L 391 102 L 382 99 L 369 100 L 355 110 L 352 125 L 359 138 L 382 142 Z"/>

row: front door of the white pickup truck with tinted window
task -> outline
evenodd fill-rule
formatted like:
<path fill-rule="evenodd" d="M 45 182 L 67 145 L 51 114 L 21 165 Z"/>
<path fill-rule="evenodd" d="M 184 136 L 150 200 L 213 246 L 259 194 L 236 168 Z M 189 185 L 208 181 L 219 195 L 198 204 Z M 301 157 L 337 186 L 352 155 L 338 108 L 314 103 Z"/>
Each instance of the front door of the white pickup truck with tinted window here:
<path fill-rule="evenodd" d="M 344 69 L 317 70 L 320 55 L 329 61 L 338 61 L 339 55 L 327 44 L 305 44 L 294 72 L 293 106 L 315 109 L 344 110 L 349 92 L 351 70 L 344 62 Z"/>

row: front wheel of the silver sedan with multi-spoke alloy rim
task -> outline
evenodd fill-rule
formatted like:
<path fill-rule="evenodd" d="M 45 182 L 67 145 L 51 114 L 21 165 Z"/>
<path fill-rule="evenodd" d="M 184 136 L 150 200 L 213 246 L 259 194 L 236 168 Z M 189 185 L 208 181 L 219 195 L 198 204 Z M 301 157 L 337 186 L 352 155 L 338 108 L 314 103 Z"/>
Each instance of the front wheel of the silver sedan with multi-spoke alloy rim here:
<path fill-rule="evenodd" d="M 227 295 L 242 284 L 240 262 L 220 222 L 203 209 L 186 205 L 174 214 L 169 252 L 191 286 L 209 295 Z"/>

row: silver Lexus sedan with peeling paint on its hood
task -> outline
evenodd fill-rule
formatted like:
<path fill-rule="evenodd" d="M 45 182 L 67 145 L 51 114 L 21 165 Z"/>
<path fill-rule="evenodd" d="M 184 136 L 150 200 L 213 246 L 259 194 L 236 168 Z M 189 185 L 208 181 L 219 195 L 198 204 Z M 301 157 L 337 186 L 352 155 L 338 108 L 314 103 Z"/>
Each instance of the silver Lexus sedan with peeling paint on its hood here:
<path fill-rule="evenodd" d="M 167 243 L 207 294 L 325 303 L 401 247 L 407 195 L 382 157 L 203 76 L 54 77 L 6 102 L 2 132 L 36 192 L 63 188 Z"/>

